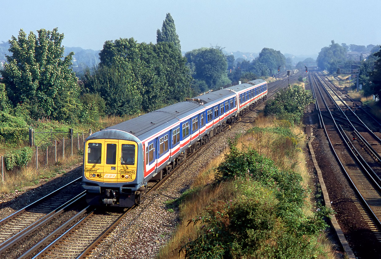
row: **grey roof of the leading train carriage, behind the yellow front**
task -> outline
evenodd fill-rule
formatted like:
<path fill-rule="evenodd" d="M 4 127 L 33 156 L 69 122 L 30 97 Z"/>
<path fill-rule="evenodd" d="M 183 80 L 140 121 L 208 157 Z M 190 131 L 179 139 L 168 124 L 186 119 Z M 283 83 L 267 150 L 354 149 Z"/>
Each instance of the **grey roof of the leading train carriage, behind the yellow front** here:
<path fill-rule="evenodd" d="M 106 130 L 122 130 L 133 134 L 140 140 L 144 140 L 154 133 L 165 129 L 167 126 L 179 122 L 179 119 L 192 114 L 202 106 L 197 102 L 178 102 L 139 117 L 132 118 L 114 126 L 109 126 Z M 203 108 L 203 107 L 202 107 Z"/>

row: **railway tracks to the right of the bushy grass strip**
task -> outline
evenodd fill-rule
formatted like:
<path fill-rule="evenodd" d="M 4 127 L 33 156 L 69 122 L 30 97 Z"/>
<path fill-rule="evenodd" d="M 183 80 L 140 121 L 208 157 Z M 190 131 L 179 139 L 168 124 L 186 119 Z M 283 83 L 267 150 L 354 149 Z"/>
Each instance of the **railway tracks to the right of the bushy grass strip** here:
<path fill-rule="evenodd" d="M 313 78 L 310 76 L 309 80 L 317 100 L 316 107 L 321 126 L 339 165 L 357 193 L 357 197 L 354 197 L 355 203 L 360 207 L 359 210 L 362 211 L 363 218 L 375 237 L 381 241 L 381 187 L 379 176 L 375 173 L 380 167 L 376 158 L 378 153 L 370 155 L 370 149 L 362 146 L 365 143 L 359 144 L 365 142 L 366 138 L 356 130 L 353 121 L 344 113 L 351 110 L 348 109 L 346 101 L 333 93 L 321 77 L 314 75 Z M 356 137 L 352 137 L 353 132 L 362 140 L 358 141 Z"/>

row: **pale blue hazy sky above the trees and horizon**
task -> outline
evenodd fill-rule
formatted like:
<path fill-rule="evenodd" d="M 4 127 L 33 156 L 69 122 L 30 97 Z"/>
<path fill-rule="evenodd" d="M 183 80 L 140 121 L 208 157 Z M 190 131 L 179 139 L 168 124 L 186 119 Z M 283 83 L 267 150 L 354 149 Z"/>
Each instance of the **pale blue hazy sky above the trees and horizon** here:
<path fill-rule="evenodd" d="M 44 28 L 64 33 L 64 46 L 101 50 L 106 40 L 156 43 L 171 13 L 181 50 L 317 55 L 336 43 L 381 44 L 380 0 L 0 0 L 0 42 Z"/>

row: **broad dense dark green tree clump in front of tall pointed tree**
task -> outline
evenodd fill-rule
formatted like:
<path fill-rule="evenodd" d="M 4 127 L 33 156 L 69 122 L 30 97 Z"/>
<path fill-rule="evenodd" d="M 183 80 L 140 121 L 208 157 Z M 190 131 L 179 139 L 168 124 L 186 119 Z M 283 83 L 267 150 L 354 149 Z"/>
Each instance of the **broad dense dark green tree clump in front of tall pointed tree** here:
<path fill-rule="evenodd" d="M 106 41 L 99 59 L 97 69 L 85 74 L 82 92 L 98 93 L 107 115 L 147 112 L 190 95 L 186 59 L 173 43 Z"/>

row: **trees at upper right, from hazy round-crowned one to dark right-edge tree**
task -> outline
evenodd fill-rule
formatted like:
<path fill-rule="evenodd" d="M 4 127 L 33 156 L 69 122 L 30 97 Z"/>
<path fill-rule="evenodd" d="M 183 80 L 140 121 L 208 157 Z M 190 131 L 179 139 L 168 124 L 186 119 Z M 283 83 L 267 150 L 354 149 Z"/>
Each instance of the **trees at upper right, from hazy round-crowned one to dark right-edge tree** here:
<path fill-rule="evenodd" d="M 369 53 L 370 55 L 360 54 L 360 60 L 355 61 L 347 58 L 348 51 L 356 51 L 359 53 Z M 379 45 L 355 45 L 346 43 L 335 43 L 331 41 L 331 45 L 323 47 L 316 59 L 317 65 L 322 70 L 327 70 L 331 74 L 335 74 L 338 68 L 352 69 L 352 64 L 356 64 L 355 68 L 360 69 L 359 84 L 363 86 L 364 95 L 374 94 L 381 97 L 381 50 Z"/>

